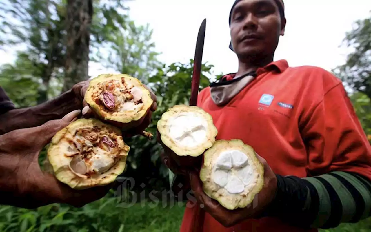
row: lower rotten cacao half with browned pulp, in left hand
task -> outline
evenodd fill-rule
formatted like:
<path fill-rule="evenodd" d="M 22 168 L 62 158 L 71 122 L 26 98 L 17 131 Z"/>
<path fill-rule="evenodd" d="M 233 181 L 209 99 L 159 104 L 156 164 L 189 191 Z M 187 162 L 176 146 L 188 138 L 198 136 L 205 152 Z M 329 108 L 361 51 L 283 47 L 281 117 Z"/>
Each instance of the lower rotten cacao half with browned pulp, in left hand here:
<path fill-rule="evenodd" d="M 47 159 L 60 182 L 86 189 L 112 183 L 124 171 L 129 149 L 118 128 L 81 118 L 54 135 Z"/>

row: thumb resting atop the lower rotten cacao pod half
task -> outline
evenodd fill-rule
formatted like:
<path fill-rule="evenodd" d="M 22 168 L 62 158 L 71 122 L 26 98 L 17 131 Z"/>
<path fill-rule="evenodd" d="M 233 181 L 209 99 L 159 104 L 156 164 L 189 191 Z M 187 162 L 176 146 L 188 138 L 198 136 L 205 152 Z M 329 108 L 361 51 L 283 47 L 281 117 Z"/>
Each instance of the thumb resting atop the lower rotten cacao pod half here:
<path fill-rule="evenodd" d="M 58 131 L 62 130 L 72 121 L 74 121 L 80 113 L 81 110 L 75 110 L 69 112 L 59 120 L 47 121 L 45 124 L 37 127 L 37 131 L 39 133 L 39 143 L 42 143 L 42 145 L 45 146 Z"/>

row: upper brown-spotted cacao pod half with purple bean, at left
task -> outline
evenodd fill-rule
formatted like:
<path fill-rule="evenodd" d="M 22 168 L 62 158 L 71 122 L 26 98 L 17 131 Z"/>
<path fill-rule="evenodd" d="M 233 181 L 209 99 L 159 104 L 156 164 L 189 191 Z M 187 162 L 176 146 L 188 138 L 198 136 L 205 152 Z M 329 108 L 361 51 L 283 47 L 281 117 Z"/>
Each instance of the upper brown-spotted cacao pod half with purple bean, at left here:
<path fill-rule="evenodd" d="M 127 74 L 102 74 L 93 78 L 85 101 L 99 118 L 123 131 L 138 127 L 153 103 L 145 85 Z"/>

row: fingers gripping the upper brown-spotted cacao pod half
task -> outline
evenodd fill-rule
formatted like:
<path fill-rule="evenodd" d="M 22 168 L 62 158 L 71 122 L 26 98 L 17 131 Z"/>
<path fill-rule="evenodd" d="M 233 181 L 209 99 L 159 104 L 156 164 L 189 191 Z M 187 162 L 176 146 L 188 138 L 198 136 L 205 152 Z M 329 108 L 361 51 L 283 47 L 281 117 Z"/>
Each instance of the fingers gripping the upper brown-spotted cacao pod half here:
<path fill-rule="evenodd" d="M 85 96 L 85 92 L 88 89 L 89 81 L 80 82 L 80 83 L 76 84 L 75 86 L 76 86 L 75 87 L 76 94 L 77 95 L 81 94 L 82 99 L 83 99 L 84 96 Z M 151 105 L 150 111 L 147 113 L 147 115 L 145 115 L 145 118 L 144 118 L 143 122 L 138 127 L 133 128 L 133 129 L 128 130 L 128 131 L 125 131 L 125 133 L 123 133 L 125 137 L 132 137 L 132 136 L 137 135 L 137 134 L 141 133 L 142 131 L 144 131 L 145 128 L 147 128 L 151 124 L 151 122 L 152 122 L 152 112 L 154 112 L 154 111 L 157 110 L 157 98 L 156 98 L 156 95 L 146 85 L 144 85 L 144 87 L 146 89 L 148 89 L 148 91 L 150 91 L 151 98 L 153 100 L 153 103 Z M 92 109 L 86 103 L 85 99 L 83 99 L 82 104 L 83 104 L 83 107 L 84 107 L 82 109 L 82 115 L 83 115 L 83 117 L 85 117 L 85 118 L 96 117 L 96 114 L 92 111 Z"/>

